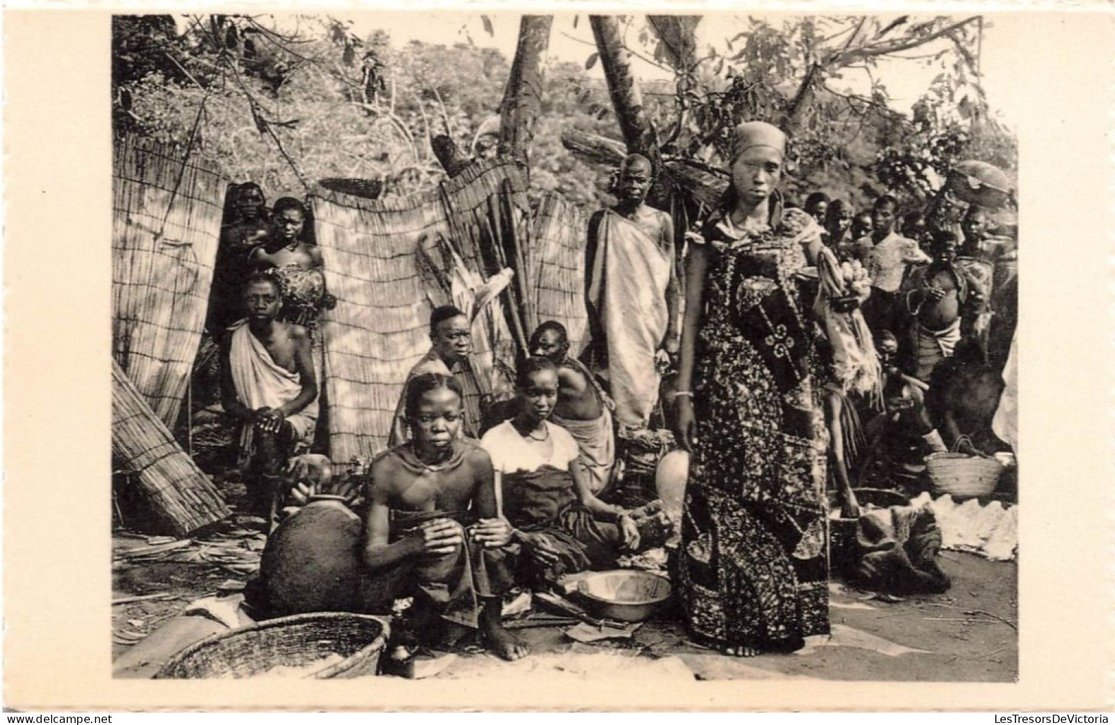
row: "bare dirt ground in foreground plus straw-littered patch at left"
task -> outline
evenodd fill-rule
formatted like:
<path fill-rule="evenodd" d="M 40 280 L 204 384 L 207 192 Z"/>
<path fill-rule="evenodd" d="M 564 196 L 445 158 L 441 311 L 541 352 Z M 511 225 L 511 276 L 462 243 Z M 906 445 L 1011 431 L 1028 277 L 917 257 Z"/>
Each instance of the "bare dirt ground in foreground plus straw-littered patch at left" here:
<path fill-rule="evenodd" d="M 133 648 L 143 647 L 139 642 L 144 637 L 167 622 L 181 624 L 182 618 L 174 618 L 190 602 L 241 586 L 263 545 L 263 534 L 252 523 L 233 519 L 196 536 L 190 545 L 117 532 L 114 602 L 124 602 L 113 607 L 114 659 L 128 659 Z M 156 550 L 146 558 L 123 554 L 128 549 L 153 545 L 172 549 Z M 899 599 L 834 581 L 830 587 L 832 635 L 811 638 L 804 650 L 793 655 L 724 657 L 688 642 L 681 627 L 671 621 L 644 622 L 628 640 L 594 644 L 570 639 L 564 634 L 568 626 L 526 627 L 516 632 L 531 645 L 533 657 L 508 664 L 486 654 L 466 652 L 445 660 L 445 667 L 434 676 L 469 678 L 545 671 L 547 676 L 580 673 L 598 677 L 620 668 L 630 674 L 632 666 L 646 665 L 670 677 L 696 679 L 1017 679 L 1016 564 L 946 551 L 941 553 L 941 567 L 952 579 L 944 594 Z M 145 596 L 155 598 L 127 601 Z M 531 615 L 516 626 L 541 613 L 535 602 Z M 209 629 L 202 629 L 210 634 L 222 628 L 209 622 Z"/>

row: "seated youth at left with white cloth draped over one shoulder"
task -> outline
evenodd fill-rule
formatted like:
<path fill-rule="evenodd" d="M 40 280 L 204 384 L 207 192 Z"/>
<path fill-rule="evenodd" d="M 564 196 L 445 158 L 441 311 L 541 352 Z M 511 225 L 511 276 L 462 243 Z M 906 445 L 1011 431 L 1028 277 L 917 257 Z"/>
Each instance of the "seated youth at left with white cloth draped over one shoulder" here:
<path fill-rule="evenodd" d="M 279 283 L 253 276 L 244 288 L 249 317 L 222 344 L 221 404 L 243 424 L 241 464 L 252 513 L 274 522 L 279 482 L 299 443 L 313 437 L 318 379 L 306 328 L 277 319 Z"/>

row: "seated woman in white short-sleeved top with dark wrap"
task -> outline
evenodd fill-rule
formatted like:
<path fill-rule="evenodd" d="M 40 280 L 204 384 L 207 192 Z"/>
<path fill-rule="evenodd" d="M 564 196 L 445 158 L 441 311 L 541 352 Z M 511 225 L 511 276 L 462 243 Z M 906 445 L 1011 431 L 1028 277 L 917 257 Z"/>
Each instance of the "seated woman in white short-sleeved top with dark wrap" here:
<path fill-rule="evenodd" d="M 518 412 L 488 431 L 481 445 L 492 456 L 503 513 L 522 544 L 520 576 L 534 587 L 589 569 L 612 569 L 623 550 L 639 547 L 627 511 L 590 490 L 576 441 L 547 420 L 558 402 L 558 368 L 527 358 L 516 380 Z"/>

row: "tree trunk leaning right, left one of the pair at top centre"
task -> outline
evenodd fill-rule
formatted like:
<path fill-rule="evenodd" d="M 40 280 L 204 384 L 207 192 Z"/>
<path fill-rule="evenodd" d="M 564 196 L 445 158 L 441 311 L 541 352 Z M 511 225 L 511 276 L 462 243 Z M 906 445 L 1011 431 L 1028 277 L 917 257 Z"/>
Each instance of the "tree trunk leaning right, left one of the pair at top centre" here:
<path fill-rule="evenodd" d="M 542 109 L 542 58 L 550 47 L 553 16 L 523 16 L 518 47 L 501 104 L 500 153 L 524 163 L 530 157 L 534 122 Z"/>

